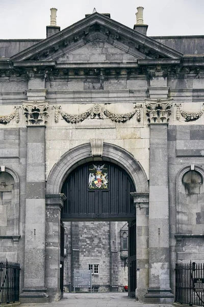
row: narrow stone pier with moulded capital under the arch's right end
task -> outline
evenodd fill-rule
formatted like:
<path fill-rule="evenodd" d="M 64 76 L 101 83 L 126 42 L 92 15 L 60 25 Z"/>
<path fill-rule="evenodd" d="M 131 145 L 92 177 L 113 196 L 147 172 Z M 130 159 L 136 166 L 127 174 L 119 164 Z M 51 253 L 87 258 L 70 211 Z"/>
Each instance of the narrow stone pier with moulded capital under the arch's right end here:
<path fill-rule="evenodd" d="M 136 207 L 137 289 L 136 298 L 143 300 L 149 285 L 148 214 L 149 194 L 131 193 Z"/>

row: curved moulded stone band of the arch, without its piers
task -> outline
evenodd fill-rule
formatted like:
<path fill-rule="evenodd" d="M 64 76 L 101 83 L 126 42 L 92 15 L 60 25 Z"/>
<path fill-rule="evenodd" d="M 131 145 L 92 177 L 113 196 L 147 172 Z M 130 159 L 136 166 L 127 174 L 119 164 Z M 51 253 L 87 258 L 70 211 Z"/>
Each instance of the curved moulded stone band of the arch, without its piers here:
<path fill-rule="evenodd" d="M 67 151 L 50 171 L 46 193 L 59 194 L 65 179 L 74 168 L 96 160 L 97 157 L 94 159 L 92 157 L 90 143 L 82 144 Z M 104 143 L 103 160 L 113 162 L 122 167 L 132 178 L 137 193 L 148 193 L 148 181 L 145 171 L 131 153 L 117 145 Z"/>

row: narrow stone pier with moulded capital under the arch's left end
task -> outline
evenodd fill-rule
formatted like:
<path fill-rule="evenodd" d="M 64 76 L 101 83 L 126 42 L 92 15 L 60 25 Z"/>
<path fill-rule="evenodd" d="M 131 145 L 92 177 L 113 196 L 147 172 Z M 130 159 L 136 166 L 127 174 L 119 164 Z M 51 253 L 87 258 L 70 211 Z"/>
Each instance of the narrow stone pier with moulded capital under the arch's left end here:
<path fill-rule="evenodd" d="M 60 217 L 64 194 L 45 194 L 46 270 L 45 281 L 50 300 L 59 300 L 60 290 Z"/>

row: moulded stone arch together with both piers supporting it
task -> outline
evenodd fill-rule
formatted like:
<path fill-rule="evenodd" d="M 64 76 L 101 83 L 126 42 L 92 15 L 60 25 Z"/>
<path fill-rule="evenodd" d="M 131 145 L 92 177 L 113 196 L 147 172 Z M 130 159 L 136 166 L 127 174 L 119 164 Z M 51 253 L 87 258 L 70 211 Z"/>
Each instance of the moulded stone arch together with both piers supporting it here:
<path fill-rule="evenodd" d="M 103 145 L 103 153 L 102 153 L 103 161 L 112 162 L 119 167 L 123 168 L 127 174 L 131 177 L 136 189 L 137 193 L 134 194 L 134 204 L 135 206 L 139 204 L 139 207 L 136 206 L 136 211 L 141 218 L 138 225 L 139 227 L 144 226 L 144 218 L 145 223 L 147 222 L 147 211 L 146 208 L 148 206 L 148 181 L 140 163 L 131 155 L 131 153 L 127 152 L 123 148 L 104 143 Z M 54 165 L 53 169 L 50 171 L 47 184 L 46 184 L 46 214 L 47 214 L 47 232 L 46 232 L 46 287 L 49 296 L 54 296 L 54 299 L 60 297 L 60 231 L 58 234 L 56 230 L 60 229 L 60 214 L 61 208 L 63 206 L 63 201 L 66 199 L 64 194 L 61 194 L 61 189 L 63 183 L 65 182 L 67 176 L 77 168 L 78 166 L 95 160 L 100 160 L 101 157 L 93 157 L 91 144 L 86 143 L 75 147 L 69 151 L 67 151 L 61 159 Z M 138 212 L 139 210 L 139 212 Z M 144 217 L 145 215 L 145 217 Z M 144 217 L 144 218 L 143 218 Z M 146 223 L 146 227 L 148 223 Z M 142 225 L 142 226 L 141 226 Z M 52 230 L 55 229 L 55 235 Z M 141 235 L 140 235 L 141 239 Z M 144 235 L 144 240 L 146 236 Z M 139 240 L 138 240 L 139 242 Z M 58 248 L 56 248 L 58 247 Z M 143 247 L 138 248 L 138 258 L 141 259 L 141 263 L 145 261 L 148 263 L 148 259 L 146 259 L 146 253 L 143 253 Z M 55 264 L 53 262 L 55 259 Z M 55 267 L 55 270 L 52 268 Z M 138 268 L 140 265 L 138 266 Z M 148 272 L 147 269 L 143 269 L 141 266 L 142 271 L 144 274 L 141 278 L 138 277 L 138 284 L 143 289 L 142 293 L 147 289 L 147 280 L 148 280 Z M 145 280 L 145 281 L 144 281 Z M 55 288 L 55 289 L 54 289 Z M 56 291 L 56 289 L 58 289 Z"/>

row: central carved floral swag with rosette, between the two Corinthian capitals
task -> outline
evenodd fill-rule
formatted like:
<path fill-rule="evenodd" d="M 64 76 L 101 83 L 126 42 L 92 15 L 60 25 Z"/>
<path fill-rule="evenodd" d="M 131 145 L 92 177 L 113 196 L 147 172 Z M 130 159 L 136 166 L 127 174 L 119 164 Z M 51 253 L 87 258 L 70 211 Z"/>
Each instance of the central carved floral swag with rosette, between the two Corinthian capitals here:
<path fill-rule="evenodd" d="M 116 123 L 120 122 L 126 122 L 127 120 L 130 120 L 136 113 L 137 113 L 137 121 L 140 122 L 141 115 L 140 115 L 140 108 L 142 107 L 141 103 L 136 103 L 134 106 L 134 109 L 130 113 L 124 113 L 124 114 L 117 114 L 108 111 L 106 108 L 99 104 L 95 104 L 91 108 L 89 108 L 86 112 L 81 114 L 68 114 L 66 112 L 63 112 L 61 110 L 61 105 L 53 105 L 53 108 L 55 109 L 55 122 L 59 122 L 59 115 L 62 116 L 62 118 L 67 122 L 71 124 L 77 124 L 79 122 L 84 121 L 89 116 L 93 118 L 103 119 L 104 115 L 107 118 L 110 118 L 112 121 Z"/>

